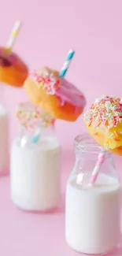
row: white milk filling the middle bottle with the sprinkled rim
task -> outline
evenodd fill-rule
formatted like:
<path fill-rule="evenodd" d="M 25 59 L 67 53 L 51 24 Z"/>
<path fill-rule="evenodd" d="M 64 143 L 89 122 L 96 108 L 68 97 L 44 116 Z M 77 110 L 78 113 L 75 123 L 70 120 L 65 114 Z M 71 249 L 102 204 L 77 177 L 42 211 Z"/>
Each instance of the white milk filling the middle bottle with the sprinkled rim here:
<path fill-rule="evenodd" d="M 11 149 L 11 199 L 24 210 L 50 210 L 60 200 L 61 150 L 57 139 L 45 137 L 21 148 L 17 139 Z"/>

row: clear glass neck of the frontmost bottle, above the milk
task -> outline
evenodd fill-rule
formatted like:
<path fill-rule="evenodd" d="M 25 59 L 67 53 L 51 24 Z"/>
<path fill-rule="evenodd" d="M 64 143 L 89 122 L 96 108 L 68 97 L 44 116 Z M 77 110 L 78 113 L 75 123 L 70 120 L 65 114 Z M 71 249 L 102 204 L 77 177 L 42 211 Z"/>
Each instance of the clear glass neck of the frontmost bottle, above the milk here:
<path fill-rule="evenodd" d="M 113 163 L 113 155 L 94 142 L 89 135 L 79 135 L 74 142 L 76 163 L 73 173 L 89 173 L 91 175 L 97 166 L 98 172 L 106 176 L 117 177 Z M 102 159 L 102 155 L 104 155 Z M 99 166 L 100 165 L 100 166 Z"/>

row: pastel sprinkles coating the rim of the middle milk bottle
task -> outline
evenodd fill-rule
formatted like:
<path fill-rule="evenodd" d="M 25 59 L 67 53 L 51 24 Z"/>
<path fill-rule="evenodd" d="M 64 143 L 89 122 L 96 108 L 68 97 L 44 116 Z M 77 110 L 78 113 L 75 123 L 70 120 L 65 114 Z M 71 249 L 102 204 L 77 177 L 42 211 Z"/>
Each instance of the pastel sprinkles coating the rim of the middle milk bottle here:
<path fill-rule="evenodd" d="M 28 130 L 37 128 L 41 121 L 43 128 L 54 124 L 55 119 L 41 109 L 31 106 L 30 102 L 20 103 L 17 106 L 17 119 L 20 125 Z"/>

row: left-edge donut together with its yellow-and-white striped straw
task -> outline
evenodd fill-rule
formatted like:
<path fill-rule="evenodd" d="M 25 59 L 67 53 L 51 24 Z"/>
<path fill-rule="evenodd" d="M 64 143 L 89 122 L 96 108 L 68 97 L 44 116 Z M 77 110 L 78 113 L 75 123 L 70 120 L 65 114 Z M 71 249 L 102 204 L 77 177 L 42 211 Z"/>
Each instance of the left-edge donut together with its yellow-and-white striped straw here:
<path fill-rule="evenodd" d="M 20 20 L 15 22 L 6 47 L 0 47 L 0 82 L 14 87 L 23 86 L 24 80 L 28 76 L 27 65 L 12 51 L 20 31 L 20 24 Z"/>

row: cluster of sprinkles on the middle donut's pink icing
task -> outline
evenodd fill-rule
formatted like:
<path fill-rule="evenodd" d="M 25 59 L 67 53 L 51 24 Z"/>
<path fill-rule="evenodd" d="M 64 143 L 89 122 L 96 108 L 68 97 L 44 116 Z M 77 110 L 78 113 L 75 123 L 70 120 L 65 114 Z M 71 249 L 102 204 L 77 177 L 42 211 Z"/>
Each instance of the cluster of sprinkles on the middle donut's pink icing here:
<path fill-rule="evenodd" d="M 32 72 L 30 78 L 35 80 L 39 88 L 43 87 L 49 95 L 55 95 L 56 91 L 61 87 L 61 80 L 56 79 L 53 73 L 47 71 L 43 75 L 38 72 Z"/>

